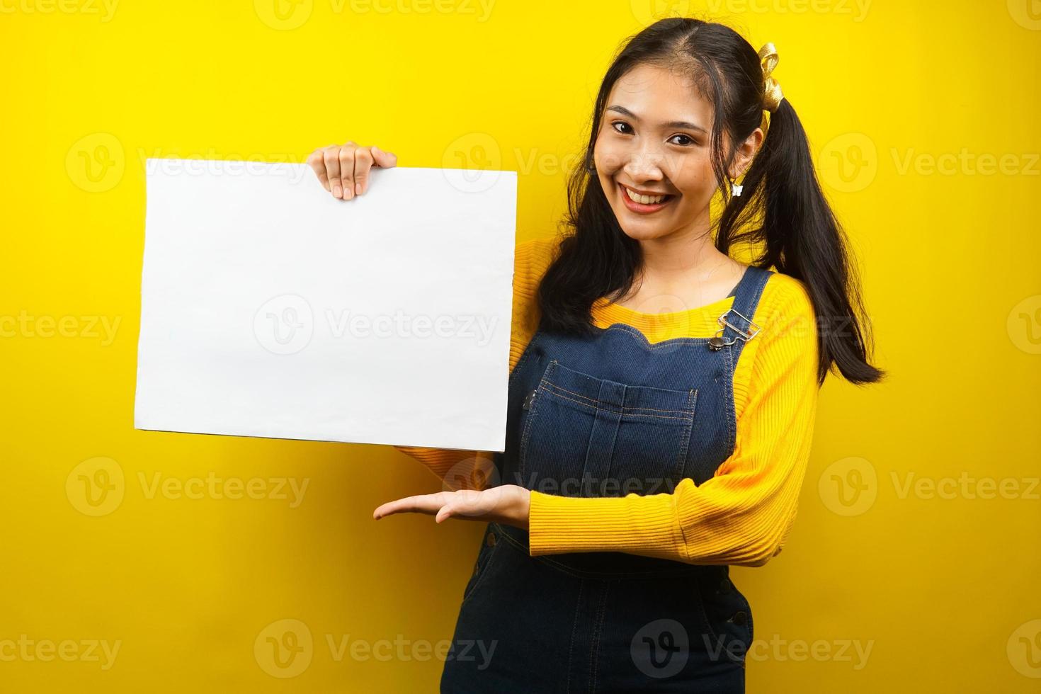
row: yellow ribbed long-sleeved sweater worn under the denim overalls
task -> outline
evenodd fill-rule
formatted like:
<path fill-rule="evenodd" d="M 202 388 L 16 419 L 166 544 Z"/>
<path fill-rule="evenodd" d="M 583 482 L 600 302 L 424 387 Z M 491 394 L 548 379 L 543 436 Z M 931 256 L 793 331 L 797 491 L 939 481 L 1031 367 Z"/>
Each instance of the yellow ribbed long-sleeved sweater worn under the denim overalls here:
<path fill-rule="evenodd" d="M 510 371 L 538 326 L 535 290 L 558 241 L 520 242 L 514 254 Z M 628 324 L 652 343 L 711 337 L 733 297 L 689 311 L 639 313 L 600 300 L 599 327 Z M 684 479 L 675 491 L 620 497 L 572 497 L 531 492 L 531 556 L 623 551 L 688 564 L 762 566 L 784 546 L 797 511 L 817 404 L 817 333 L 813 306 L 796 279 L 775 273 L 753 320 L 734 374 L 737 436 L 733 455 L 701 486 Z M 492 454 L 395 446 L 438 478 L 490 461 Z M 471 461 L 471 462 L 462 462 Z M 455 485 L 450 488 L 456 488 Z"/>

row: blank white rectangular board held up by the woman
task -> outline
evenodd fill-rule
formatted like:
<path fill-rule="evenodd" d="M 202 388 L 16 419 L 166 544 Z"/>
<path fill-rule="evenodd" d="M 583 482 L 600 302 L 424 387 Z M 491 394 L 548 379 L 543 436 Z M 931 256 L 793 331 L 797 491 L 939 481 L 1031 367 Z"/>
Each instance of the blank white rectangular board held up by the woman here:
<path fill-rule="evenodd" d="M 503 451 L 516 173 L 148 159 L 136 429 Z M 366 323 L 367 319 L 367 323 Z"/>

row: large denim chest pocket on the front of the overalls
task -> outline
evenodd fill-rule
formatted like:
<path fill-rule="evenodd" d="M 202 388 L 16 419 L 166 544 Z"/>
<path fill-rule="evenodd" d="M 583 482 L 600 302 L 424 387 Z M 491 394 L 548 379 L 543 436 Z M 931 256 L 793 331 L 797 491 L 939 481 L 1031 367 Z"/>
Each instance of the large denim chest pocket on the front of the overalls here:
<path fill-rule="evenodd" d="M 517 484 L 562 496 L 671 491 L 696 402 L 693 388 L 599 379 L 554 359 L 525 399 Z"/>

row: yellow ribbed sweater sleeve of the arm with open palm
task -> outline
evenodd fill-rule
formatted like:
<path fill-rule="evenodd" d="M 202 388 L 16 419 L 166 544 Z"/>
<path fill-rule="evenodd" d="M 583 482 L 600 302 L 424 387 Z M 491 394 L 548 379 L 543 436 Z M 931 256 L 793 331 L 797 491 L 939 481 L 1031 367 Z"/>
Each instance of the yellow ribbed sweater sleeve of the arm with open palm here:
<path fill-rule="evenodd" d="M 762 566 L 781 551 L 796 514 L 817 403 L 817 332 L 805 286 L 777 275 L 754 320 L 748 400 L 733 454 L 697 486 L 672 492 L 570 497 L 531 492 L 531 556 L 623 551 L 688 564 Z M 766 292 L 763 293 L 766 300 Z M 764 305 L 765 304 L 765 305 Z M 762 314 L 762 315 L 761 315 Z"/>

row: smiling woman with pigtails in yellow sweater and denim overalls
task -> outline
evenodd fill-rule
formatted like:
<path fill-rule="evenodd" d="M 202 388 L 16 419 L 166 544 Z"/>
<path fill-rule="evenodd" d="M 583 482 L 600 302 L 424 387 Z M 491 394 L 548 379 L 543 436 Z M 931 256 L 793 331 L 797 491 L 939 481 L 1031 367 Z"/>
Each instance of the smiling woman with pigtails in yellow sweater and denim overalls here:
<path fill-rule="evenodd" d="M 693 19 L 628 42 L 569 233 L 516 248 L 506 452 L 400 446 L 447 491 L 376 518 L 488 523 L 442 692 L 743 691 L 752 610 L 728 566 L 784 546 L 832 367 L 883 377 L 777 60 Z M 309 163 L 351 200 L 397 158 L 348 143 Z"/>

